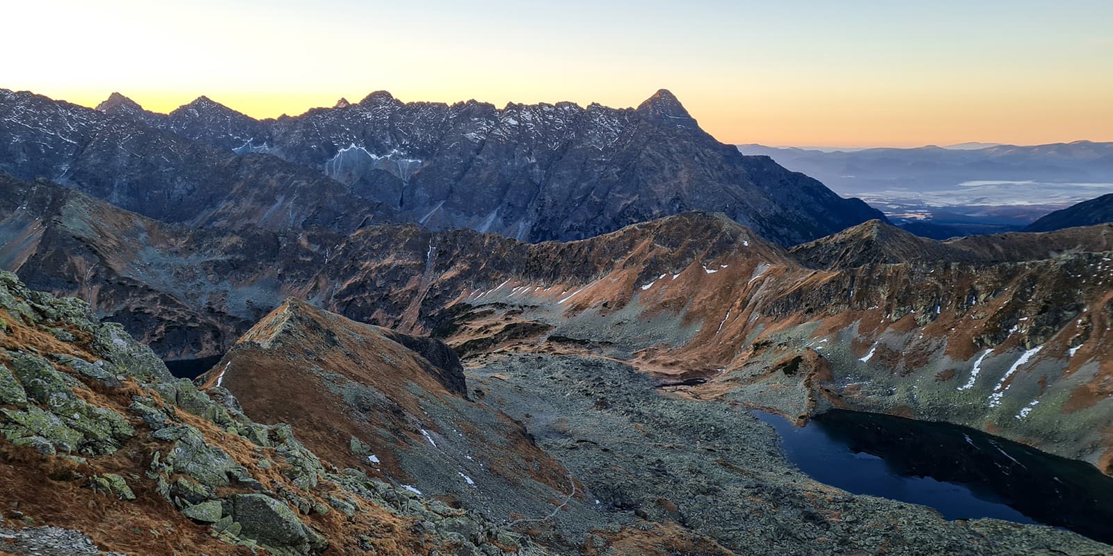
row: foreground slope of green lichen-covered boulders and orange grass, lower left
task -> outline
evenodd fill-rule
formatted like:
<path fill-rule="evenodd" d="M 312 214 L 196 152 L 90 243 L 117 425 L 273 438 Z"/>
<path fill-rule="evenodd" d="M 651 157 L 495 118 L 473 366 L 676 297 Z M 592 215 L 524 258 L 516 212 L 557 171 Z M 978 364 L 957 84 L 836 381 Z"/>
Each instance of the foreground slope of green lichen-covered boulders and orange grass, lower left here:
<path fill-rule="evenodd" d="M 252 420 L 219 386 L 175 380 L 82 301 L 7 272 L 0 434 L 6 554 L 543 554 L 482 516 L 319 459 L 289 425 Z"/>

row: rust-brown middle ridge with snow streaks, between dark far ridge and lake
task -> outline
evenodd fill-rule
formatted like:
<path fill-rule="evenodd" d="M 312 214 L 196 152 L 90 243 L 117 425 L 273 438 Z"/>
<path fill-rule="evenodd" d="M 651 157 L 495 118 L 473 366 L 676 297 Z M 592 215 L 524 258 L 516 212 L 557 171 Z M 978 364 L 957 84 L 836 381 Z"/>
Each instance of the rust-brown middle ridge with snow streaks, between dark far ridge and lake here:
<path fill-rule="evenodd" d="M 530 245 L 168 229 L 72 199 L 10 236 L 9 268 L 166 356 L 223 354 L 296 297 L 464 355 L 598 354 L 791 416 L 948 420 L 1110 471 L 1109 226 L 937 242 L 873 222 L 789 254 L 699 214 Z"/>

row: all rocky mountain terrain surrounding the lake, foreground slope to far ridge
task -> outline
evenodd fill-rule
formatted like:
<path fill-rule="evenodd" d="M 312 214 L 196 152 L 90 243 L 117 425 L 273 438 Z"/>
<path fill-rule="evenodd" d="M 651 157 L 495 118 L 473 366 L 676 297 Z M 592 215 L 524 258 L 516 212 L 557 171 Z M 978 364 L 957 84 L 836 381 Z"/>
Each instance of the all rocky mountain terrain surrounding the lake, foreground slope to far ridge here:
<path fill-rule="evenodd" d="M 0 91 L 0 550 L 1110 552 L 1100 518 L 824 485 L 748 410 L 946 421 L 1106 479 L 1105 198 L 919 237 L 663 90 L 273 120 Z"/>

